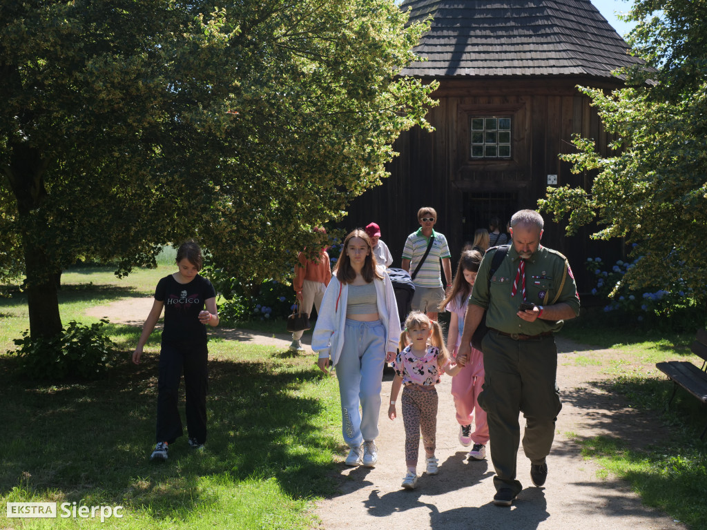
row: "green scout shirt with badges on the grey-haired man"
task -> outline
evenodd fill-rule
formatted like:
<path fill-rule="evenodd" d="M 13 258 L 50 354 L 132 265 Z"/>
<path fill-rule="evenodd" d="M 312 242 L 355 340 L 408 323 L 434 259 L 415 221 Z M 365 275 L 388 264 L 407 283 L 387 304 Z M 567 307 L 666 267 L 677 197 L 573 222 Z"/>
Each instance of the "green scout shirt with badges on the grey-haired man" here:
<path fill-rule="evenodd" d="M 489 284 L 491 261 L 495 252 L 486 252 L 477 280 L 474 282 L 469 303 L 483 307 L 486 310 L 486 326 L 498 329 L 504 333 L 538 335 L 547 331 L 559 331 L 563 321 L 536 319 L 535 322 L 525 322 L 518 317 L 518 309 L 522 302 L 522 290 L 511 297 L 513 281 L 518 273 L 520 257 L 513 245 L 508 254 L 498 266 Z M 555 302 L 566 303 L 579 315 L 579 295 L 577 285 L 572 275 L 572 269 L 567 258 L 556 250 L 542 245 L 525 261 L 525 298 L 537 305 L 550 305 L 562 283 L 564 273 L 567 273 L 565 283 L 559 298 Z M 490 289 L 490 291 L 489 291 Z"/>

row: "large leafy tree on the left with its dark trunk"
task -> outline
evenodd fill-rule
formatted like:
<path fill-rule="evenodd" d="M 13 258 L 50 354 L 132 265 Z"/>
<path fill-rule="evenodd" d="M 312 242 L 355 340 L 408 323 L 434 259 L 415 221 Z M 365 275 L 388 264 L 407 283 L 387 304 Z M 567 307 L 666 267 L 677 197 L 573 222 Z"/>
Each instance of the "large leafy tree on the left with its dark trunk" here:
<path fill-rule="evenodd" d="M 152 264 L 196 236 L 239 278 L 279 276 L 312 227 L 380 183 L 428 126 L 399 78 L 420 25 L 392 0 L 5 0 L 0 279 L 32 336 L 61 329 L 76 259 Z"/>

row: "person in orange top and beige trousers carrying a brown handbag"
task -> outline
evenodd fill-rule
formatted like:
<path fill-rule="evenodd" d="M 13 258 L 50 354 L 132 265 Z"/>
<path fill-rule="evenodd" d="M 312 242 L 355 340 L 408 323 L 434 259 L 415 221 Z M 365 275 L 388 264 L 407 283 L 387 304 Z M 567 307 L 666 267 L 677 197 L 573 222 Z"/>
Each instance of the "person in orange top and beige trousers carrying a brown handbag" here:
<path fill-rule="evenodd" d="M 323 234 L 327 233 L 324 228 L 316 230 Z M 317 261 L 308 261 L 303 252 L 297 255 L 297 261 L 299 264 L 295 266 L 295 278 L 292 281 L 292 286 L 297 295 L 300 311 L 310 315 L 313 305 L 317 307 L 317 314 L 319 314 L 324 292 L 329 285 L 329 280 L 332 279 L 332 265 L 329 263 L 327 249 L 322 249 Z M 292 343 L 290 344 L 292 351 L 298 353 L 305 351 L 301 341 L 303 334 L 304 331 L 295 331 L 292 334 Z"/>

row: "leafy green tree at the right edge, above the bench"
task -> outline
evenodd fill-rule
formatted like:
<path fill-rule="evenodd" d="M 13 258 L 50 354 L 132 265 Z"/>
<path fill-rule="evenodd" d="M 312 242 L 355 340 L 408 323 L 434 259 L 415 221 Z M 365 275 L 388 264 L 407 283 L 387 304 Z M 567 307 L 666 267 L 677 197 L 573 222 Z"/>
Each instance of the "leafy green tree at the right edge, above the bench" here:
<path fill-rule="evenodd" d="M 611 94 L 582 89 L 614 135 L 615 154 L 575 139 L 578 153 L 563 158 L 596 175 L 590 189 L 549 189 L 540 205 L 556 220 L 568 215 L 569 233 L 596 220 L 605 227 L 592 237 L 625 237 L 641 257 L 624 277 L 633 288 L 679 283 L 704 297 L 707 1 L 636 0 L 626 18 L 639 22 L 629 38 L 651 68 L 627 72 L 627 87 Z"/>

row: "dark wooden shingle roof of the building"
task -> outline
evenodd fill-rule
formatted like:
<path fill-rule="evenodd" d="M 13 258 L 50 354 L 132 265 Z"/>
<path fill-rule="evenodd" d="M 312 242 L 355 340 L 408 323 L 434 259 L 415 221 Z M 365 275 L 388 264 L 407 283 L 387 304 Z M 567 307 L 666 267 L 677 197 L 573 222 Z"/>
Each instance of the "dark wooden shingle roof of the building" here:
<path fill-rule="evenodd" d="M 407 76 L 611 78 L 641 62 L 590 0 L 404 0 L 410 20 L 433 16 Z"/>

